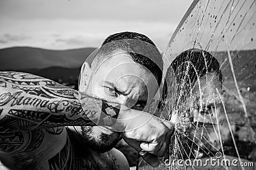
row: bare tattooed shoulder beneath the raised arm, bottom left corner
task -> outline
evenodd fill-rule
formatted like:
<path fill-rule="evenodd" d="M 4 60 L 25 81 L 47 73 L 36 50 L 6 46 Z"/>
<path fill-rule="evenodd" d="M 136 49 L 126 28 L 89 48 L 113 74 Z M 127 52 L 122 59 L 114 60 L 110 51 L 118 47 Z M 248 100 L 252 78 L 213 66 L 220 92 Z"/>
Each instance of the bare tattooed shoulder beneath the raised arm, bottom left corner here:
<path fill-rule="evenodd" d="M 66 143 L 64 128 L 1 132 L 1 166 L 8 169 L 47 169 L 48 160 Z"/>

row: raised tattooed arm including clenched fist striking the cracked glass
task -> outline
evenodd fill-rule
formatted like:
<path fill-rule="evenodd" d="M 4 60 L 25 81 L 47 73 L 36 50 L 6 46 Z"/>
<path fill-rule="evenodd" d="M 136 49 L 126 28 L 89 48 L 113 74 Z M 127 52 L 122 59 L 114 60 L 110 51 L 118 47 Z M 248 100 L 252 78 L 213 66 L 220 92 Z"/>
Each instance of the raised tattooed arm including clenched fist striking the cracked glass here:
<path fill-rule="evenodd" d="M 81 96 L 81 104 L 78 95 L 76 90 L 40 76 L 0 72 L 0 135 L 4 134 L 0 136 L 4 149 L 0 150 L 7 152 L 4 140 L 10 141 L 8 132 L 96 124 L 122 131 L 123 138 L 137 150 L 164 155 L 173 133 L 171 122 L 142 111 L 120 110 L 119 104 L 110 105 L 85 94 Z M 13 134 L 13 141 L 17 140 L 20 142 L 19 134 Z"/>

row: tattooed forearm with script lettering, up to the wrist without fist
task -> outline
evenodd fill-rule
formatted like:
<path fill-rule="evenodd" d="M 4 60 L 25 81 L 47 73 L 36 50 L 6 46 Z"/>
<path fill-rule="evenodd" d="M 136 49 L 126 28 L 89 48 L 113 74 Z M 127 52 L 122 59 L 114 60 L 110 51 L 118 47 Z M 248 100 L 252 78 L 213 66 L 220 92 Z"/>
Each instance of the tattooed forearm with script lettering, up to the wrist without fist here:
<path fill-rule="evenodd" d="M 82 107 L 78 95 L 76 90 L 40 76 L 0 72 L 0 125 L 19 131 L 104 124 L 102 119 L 108 115 L 117 117 L 119 109 L 106 101 L 83 95 Z"/>

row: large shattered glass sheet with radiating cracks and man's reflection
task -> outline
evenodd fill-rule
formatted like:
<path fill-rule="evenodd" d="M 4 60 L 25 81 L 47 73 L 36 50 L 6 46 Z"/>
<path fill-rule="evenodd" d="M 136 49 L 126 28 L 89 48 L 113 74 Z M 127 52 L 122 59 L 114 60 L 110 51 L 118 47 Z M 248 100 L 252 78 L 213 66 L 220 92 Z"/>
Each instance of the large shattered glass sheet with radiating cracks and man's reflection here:
<path fill-rule="evenodd" d="M 161 159 L 161 165 L 153 168 L 139 159 L 138 169 L 234 168 L 164 164 L 166 159 L 171 162 L 177 159 L 204 160 L 214 157 L 216 152 L 221 152 L 224 159 L 255 162 L 255 13 L 255 0 L 196 0 L 191 4 L 164 53 L 168 94 L 159 117 L 174 122 L 176 131 L 168 153 Z M 173 60 L 189 49 L 192 49 L 192 54 L 187 53 L 187 58 L 195 57 L 193 52 L 199 51 L 204 58 L 205 52 L 209 52 L 218 60 L 222 88 L 216 86 L 211 92 L 206 88 L 206 84 L 211 84 L 213 80 L 208 74 L 211 70 L 206 69 L 205 80 L 200 77 L 200 71 L 196 72 L 195 77 L 189 77 L 189 69 L 196 70 L 200 64 L 207 67 L 206 59 L 198 60 L 196 65 L 178 62 L 180 67 L 177 72 L 172 69 L 170 64 Z M 198 93 L 196 89 L 199 89 Z"/>

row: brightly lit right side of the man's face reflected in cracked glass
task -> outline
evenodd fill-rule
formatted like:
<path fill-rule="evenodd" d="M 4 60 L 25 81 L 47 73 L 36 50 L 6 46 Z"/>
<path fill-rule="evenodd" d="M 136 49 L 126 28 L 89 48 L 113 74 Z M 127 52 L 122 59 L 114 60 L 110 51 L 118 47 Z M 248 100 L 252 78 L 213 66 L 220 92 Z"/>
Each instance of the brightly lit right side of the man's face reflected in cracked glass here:
<path fill-rule="evenodd" d="M 190 120 L 192 128 L 197 130 L 189 138 L 194 139 L 202 150 L 218 151 L 221 146 L 217 126 L 223 113 L 220 94 L 221 83 L 215 73 L 200 77 L 192 91 Z"/>

